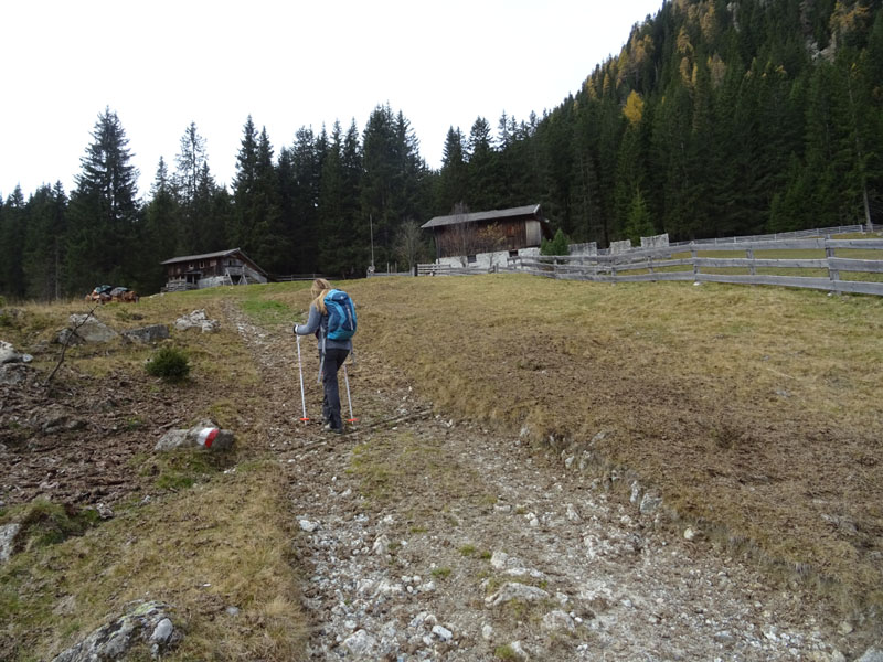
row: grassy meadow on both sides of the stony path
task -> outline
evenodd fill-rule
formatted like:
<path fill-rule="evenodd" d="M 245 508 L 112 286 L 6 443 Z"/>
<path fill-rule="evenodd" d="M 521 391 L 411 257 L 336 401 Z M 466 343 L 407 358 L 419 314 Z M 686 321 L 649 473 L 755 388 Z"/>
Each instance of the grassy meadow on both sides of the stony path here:
<path fill-rule="evenodd" d="M 632 476 L 727 553 L 753 554 L 844 610 L 883 605 L 883 299 L 518 275 L 338 285 L 357 301 L 358 351 L 382 366 L 372 384 L 409 385 L 446 416 L 479 420 L 513 444 L 528 439 L 538 452 L 591 458 L 624 495 L 621 477 Z M 119 330 L 171 324 L 199 308 L 224 320 L 235 306 L 290 335 L 307 287 L 216 288 L 97 312 Z M 8 308 L 0 338 L 33 353 L 45 374 L 57 362 L 52 337 L 85 310 Z M 139 345 L 68 351 L 45 397 L 131 395 L 113 414 L 114 438 L 139 446 L 127 459 L 131 494 L 113 520 L 73 537 L 42 535 L 55 520 L 31 517 L 33 542 L 0 566 L 0 656 L 55 654 L 147 596 L 174 604 L 188 622 L 169 660 L 304 659 L 297 534 L 283 468 L 260 444 L 274 412 L 254 357 L 230 324 L 215 334 L 172 331 L 166 342 L 191 359 L 184 384 L 148 377 L 152 350 Z M 236 430 L 237 449 L 223 462 L 151 452 L 151 431 L 206 416 Z M 26 444 L 20 430 L 0 434 Z M 398 455 L 411 458 L 407 449 Z M 376 467 L 365 450 L 351 470 L 382 503 L 391 480 L 408 483 L 409 466 Z M 7 504 L 0 524 L 35 508 L 46 506 Z M 237 619 L 228 606 L 241 609 Z"/>

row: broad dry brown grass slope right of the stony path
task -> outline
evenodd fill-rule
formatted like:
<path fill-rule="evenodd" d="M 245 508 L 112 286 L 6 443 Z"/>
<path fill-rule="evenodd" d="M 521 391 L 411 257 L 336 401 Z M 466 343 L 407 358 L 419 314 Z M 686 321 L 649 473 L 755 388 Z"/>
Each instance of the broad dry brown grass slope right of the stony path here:
<path fill-rule="evenodd" d="M 594 450 L 682 516 L 883 604 L 883 300 L 519 276 L 349 289 L 360 346 L 437 406 L 536 440 L 606 431 Z"/>

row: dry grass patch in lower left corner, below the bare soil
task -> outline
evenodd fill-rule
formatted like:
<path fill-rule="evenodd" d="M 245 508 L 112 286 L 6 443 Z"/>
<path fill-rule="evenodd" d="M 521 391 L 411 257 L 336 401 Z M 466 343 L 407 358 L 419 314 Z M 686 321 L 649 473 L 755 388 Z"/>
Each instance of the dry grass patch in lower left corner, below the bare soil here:
<path fill-rule="evenodd" d="M 8 643 L 18 631 L 34 648 L 15 659 L 50 659 L 129 601 L 150 599 L 172 605 L 174 620 L 185 623 L 187 637 L 167 660 L 304 659 L 290 523 L 280 468 L 259 462 L 83 537 L 17 555 L 3 569 L 17 596 L 14 606 L 3 605 L 15 619 Z"/>

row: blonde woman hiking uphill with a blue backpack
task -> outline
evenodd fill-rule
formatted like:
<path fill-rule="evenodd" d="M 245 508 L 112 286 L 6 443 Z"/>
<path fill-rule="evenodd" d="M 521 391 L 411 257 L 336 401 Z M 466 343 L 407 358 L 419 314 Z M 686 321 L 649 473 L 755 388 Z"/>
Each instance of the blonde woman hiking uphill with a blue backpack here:
<path fill-rule="evenodd" d="M 352 302 L 350 302 L 350 308 L 352 310 L 352 329 L 343 333 L 336 329 L 329 332 L 330 316 L 326 303 L 326 297 L 334 292 L 340 292 L 340 290 L 334 290 L 331 284 L 325 278 L 317 278 L 313 280 L 312 286 L 310 286 L 310 296 L 312 297 L 310 317 L 306 324 L 295 324 L 294 331 L 298 335 L 315 333 L 316 338 L 319 340 L 319 359 L 322 372 L 322 386 L 325 388 L 325 395 L 322 396 L 323 429 L 342 435 L 343 420 L 340 416 L 338 371 L 352 350 L 351 337 L 355 331 L 355 319 L 354 309 L 352 309 Z M 347 297 L 349 301 L 349 297 L 345 293 L 343 293 L 343 296 Z M 338 335 L 344 338 L 336 338 Z"/>

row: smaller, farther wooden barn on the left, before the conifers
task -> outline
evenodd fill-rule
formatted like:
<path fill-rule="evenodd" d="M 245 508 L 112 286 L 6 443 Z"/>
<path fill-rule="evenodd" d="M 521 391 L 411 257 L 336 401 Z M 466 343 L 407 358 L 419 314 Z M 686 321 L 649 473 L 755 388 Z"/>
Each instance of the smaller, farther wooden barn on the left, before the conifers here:
<path fill-rule="evenodd" d="M 267 281 L 267 273 L 238 248 L 173 257 L 162 265 L 166 267 L 162 289 L 167 292 Z"/>

